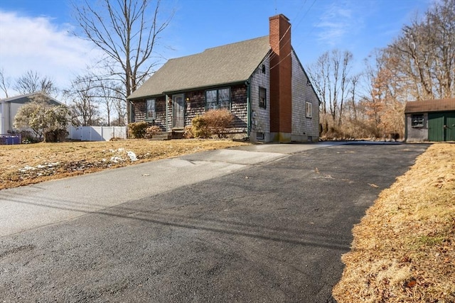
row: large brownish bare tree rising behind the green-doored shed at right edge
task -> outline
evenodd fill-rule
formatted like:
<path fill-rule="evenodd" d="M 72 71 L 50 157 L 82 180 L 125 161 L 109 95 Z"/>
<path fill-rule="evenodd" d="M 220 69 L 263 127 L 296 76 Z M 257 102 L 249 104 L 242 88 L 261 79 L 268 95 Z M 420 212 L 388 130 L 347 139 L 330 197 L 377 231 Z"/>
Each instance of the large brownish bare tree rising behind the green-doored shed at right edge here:
<path fill-rule="evenodd" d="M 424 18 L 414 18 L 382 52 L 385 67 L 407 99 L 455 97 L 455 0 L 435 1 Z"/>

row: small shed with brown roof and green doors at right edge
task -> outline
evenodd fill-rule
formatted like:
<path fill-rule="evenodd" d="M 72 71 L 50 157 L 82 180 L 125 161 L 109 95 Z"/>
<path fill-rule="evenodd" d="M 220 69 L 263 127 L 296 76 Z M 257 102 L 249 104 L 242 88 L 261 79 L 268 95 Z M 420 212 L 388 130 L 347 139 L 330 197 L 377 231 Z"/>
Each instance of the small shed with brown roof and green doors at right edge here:
<path fill-rule="evenodd" d="M 405 141 L 455 141 L 455 98 L 407 102 Z"/>

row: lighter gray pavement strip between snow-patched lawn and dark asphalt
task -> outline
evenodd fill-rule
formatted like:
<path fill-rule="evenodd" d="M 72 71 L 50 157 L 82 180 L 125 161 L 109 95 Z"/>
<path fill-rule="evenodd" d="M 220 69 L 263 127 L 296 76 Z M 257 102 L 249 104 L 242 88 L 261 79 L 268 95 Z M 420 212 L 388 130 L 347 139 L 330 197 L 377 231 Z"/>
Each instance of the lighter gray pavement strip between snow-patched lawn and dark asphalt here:
<path fill-rule="evenodd" d="M 1 190 L 0 237 L 333 144 L 267 144 L 212 150 Z"/>

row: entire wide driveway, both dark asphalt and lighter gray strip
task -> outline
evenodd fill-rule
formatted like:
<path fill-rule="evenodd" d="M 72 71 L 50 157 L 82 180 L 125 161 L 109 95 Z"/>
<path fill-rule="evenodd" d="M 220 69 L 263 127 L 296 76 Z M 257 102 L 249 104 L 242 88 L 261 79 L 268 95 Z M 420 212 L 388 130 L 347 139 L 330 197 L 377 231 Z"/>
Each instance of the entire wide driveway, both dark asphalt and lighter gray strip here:
<path fill-rule="evenodd" d="M 426 148 L 258 145 L 0 191 L 0 297 L 331 302 L 353 224 Z"/>

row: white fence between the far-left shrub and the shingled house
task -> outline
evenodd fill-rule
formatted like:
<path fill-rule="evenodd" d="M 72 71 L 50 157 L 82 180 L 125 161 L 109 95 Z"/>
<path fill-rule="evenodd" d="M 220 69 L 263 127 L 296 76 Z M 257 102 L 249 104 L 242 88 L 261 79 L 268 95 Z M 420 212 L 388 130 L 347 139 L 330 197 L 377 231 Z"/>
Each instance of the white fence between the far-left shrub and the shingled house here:
<path fill-rule="evenodd" d="M 68 133 L 71 140 L 109 141 L 111 138 L 127 138 L 127 126 L 70 126 Z"/>

